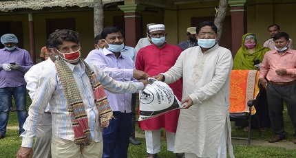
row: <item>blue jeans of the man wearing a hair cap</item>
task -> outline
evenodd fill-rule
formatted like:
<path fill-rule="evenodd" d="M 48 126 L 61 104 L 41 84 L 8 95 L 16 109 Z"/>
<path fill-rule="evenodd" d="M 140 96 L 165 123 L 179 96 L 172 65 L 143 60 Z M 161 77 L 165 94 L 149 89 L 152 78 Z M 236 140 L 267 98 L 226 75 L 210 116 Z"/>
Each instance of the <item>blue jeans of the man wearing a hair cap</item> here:
<path fill-rule="evenodd" d="M 17 106 L 17 119 L 19 120 L 19 134 L 23 133 L 23 124 L 27 118 L 28 112 L 25 109 L 27 89 L 25 84 L 19 87 L 0 88 L 0 135 L 6 135 L 6 126 L 10 107 L 12 106 L 12 95 Z"/>

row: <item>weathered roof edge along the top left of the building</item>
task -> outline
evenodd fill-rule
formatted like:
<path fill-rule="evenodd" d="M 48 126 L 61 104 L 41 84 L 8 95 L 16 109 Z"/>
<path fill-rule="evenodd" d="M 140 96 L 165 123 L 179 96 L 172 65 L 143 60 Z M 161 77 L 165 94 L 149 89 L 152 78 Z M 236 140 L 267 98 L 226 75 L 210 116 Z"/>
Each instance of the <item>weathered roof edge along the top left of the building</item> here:
<path fill-rule="evenodd" d="M 103 4 L 123 0 L 103 0 Z M 42 10 L 44 7 L 66 7 L 66 6 L 89 7 L 94 6 L 94 0 L 14 0 L 0 1 L 0 11 L 8 12 L 15 9 Z"/>

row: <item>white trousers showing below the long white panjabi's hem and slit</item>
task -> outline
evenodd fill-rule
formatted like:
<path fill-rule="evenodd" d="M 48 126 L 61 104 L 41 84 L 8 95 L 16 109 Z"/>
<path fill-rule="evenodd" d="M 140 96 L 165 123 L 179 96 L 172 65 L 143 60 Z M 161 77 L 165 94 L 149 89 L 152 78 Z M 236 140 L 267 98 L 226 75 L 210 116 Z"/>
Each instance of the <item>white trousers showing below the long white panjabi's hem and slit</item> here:
<path fill-rule="evenodd" d="M 217 158 L 226 158 L 227 157 L 227 133 L 228 133 L 228 128 L 226 128 L 226 123 L 224 126 L 224 130 L 220 139 L 220 144 L 218 147 L 217 151 Z M 194 153 L 184 153 L 186 158 L 201 158 L 195 155 Z"/>

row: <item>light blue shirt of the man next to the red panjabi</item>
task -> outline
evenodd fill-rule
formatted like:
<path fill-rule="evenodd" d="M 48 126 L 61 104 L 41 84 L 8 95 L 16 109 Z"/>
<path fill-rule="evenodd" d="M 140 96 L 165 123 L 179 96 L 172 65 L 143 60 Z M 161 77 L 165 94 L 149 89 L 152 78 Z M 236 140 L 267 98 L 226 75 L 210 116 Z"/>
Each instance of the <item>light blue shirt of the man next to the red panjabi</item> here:
<path fill-rule="evenodd" d="M 103 49 L 103 52 L 94 49 L 89 52 L 88 56 L 85 58 L 85 62 L 92 63 L 98 68 L 103 69 L 103 71 L 114 80 L 138 82 L 138 80 L 133 78 L 135 69 L 133 60 L 123 55 L 123 53 L 116 58 L 116 56 L 106 48 Z M 109 91 L 105 91 L 105 93 L 112 111 L 131 113 L 131 93 L 114 94 Z"/>

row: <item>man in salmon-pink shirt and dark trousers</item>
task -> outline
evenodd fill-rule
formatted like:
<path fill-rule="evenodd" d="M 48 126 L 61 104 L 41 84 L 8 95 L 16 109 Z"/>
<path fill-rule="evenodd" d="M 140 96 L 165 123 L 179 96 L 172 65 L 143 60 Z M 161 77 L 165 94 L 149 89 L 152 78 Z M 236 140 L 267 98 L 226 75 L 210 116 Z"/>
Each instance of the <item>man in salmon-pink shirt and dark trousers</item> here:
<path fill-rule="evenodd" d="M 283 119 L 283 100 L 286 102 L 288 115 L 294 127 L 296 144 L 296 51 L 288 47 L 289 35 L 279 32 L 273 37 L 275 50 L 266 52 L 260 66 L 260 84 L 266 88 L 269 117 L 273 126 L 274 137 L 270 143 L 286 138 Z M 267 78 L 265 80 L 264 78 Z"/>

